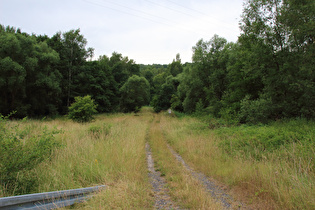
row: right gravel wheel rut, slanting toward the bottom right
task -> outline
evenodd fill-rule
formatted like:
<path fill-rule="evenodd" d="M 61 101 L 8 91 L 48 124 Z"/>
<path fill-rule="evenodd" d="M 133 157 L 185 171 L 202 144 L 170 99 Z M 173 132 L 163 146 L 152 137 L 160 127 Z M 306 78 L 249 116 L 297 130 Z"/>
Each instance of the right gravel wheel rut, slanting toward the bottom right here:
<path fill-rule="evenodd" d="M 224 191 L 216 185 L 214 182 L 210 181 L 208 177 L 204 174 L 194 171 L 189 165 L 185 163 L 183 158 L 177 154 L 171 146 L 167 145 L 172 154 L 176 157 L 176 159 L 184 166 L 184 168 L 190 172 L 190 174 L 198 179 L 200 183 L 206 188 L 206 190 L 211 193 L 211 195 L 222 203 L 225 209 L 240 209 L 242 208 L 242 204 L 234 201 L 229 195 L 224 193 Z"/>

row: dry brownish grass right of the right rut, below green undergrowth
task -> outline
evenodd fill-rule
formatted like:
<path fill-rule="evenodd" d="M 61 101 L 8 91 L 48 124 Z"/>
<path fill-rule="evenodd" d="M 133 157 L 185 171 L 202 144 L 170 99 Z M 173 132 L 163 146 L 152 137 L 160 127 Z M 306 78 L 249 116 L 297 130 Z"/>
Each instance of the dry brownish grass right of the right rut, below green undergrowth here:
<path fill-rule="evenodd" d="M 228 156 L 216 146 L 220 139 L 193 118 L 162 116 L 161 127 L 168 142 L 191 167 L 219 180 L 248 207 L 315 207 L 314 176 L 301 179 L 292 164 L 280 160 L 281 154 L 261 161 Z"/>

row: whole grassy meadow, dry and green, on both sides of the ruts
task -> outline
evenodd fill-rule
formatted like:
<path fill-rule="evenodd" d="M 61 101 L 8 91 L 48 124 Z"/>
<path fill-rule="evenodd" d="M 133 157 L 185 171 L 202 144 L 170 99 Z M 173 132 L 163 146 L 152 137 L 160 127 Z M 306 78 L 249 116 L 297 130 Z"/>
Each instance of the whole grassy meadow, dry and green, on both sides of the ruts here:
<path fill-rule="evenodd" d="M 31 172 L 17 173 L 37 180 L 29 193 L 107 186 L 74 208 L 153 208 L 146 142 L 172 200 L 182 208 L 222 207 L 177 162 L 167 144 L 191 168 L 215 179 L 247 207 L 315 208 L 314 122 L 291 120 L 213 129 L 197 118 L 154 114 L 151 108 L 142 108 L 138 114 L 97 115 L 90 123 L 26 119 L 2 126 L 23 133 L 18 136 L 23 137 L 24 145 L 40 133 L 47 133 L 42 135 L 49 136 L 46 139 L 54 137 L 59 145 Z M 12 193 L 0 186 L 0 197 L 9 195 Z"/>

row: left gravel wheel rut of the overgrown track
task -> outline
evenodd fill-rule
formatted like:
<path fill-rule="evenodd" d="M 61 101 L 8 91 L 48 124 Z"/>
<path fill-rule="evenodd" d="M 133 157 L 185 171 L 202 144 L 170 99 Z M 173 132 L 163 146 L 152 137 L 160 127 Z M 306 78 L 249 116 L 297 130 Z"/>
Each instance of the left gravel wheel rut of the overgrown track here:
<path fill-rule="evenodd" d="M 149 177 L 151 179 L 155 197 L 154 209 L 179 209 L 171 201 L 171 197 L 168 195 L 168 190 L 165 187 L 166 182 L 164 178 L 161 177 L 161 173 L 159 171 L 155 171 L 154 169 L 154 161 L 148 143 L 146 143 L 145 149 L 147 154 Z"/>

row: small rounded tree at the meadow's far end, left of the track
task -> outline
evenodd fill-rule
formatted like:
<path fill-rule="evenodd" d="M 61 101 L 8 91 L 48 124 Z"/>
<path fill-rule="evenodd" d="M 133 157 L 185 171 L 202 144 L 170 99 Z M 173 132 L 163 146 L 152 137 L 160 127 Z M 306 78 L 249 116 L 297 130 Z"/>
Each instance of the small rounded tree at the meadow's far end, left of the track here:
<path fill-rule="evenodd" d="M 150 102 L 150 84 L 144 77 L 133 75 L 120 88 L 120 110 L 138 111 Z"/>

